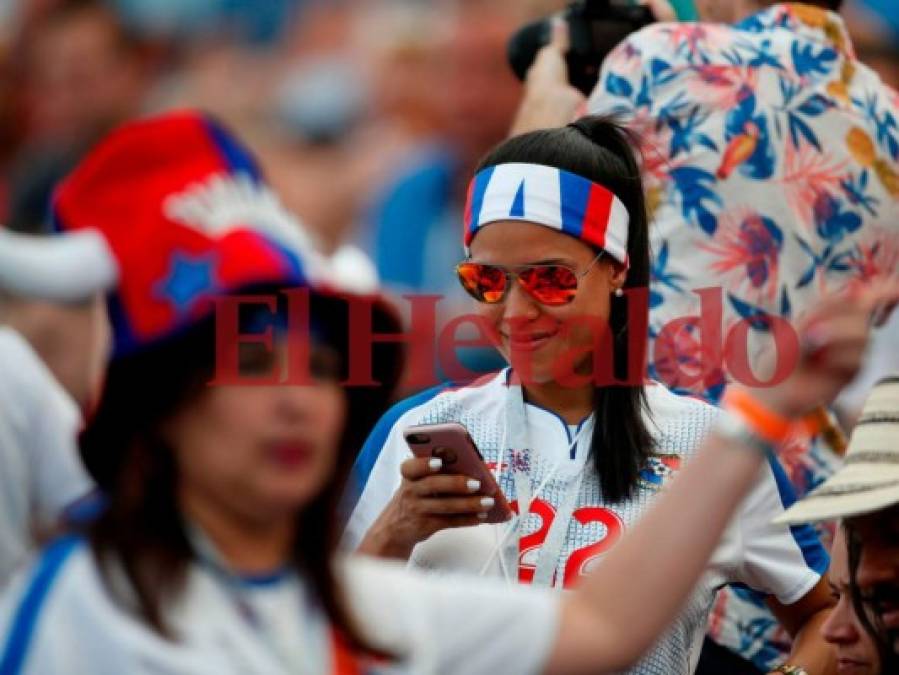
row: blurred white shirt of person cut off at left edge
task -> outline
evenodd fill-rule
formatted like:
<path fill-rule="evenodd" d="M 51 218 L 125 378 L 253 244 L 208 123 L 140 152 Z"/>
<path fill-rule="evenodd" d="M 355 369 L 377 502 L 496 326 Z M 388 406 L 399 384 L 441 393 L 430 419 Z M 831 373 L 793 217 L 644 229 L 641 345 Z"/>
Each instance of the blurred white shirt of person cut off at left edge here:
<path fill-rule="evenodd" d="M 81 421 L 25 339 L 0 327 L 0 588 L 34 532 L 92 490 L 75 443 Z"/>

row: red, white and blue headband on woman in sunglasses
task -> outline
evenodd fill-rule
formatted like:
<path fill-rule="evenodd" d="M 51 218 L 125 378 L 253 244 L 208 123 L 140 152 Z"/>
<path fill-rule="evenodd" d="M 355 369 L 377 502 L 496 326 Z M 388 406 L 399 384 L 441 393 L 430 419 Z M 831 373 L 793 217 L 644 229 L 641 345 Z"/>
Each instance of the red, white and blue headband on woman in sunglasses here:
<path fill-rule="evenodd" d="M 608 188 L 541 164 L 509 163 L 478 172 L 465 205 L 465 250 L 478 230 L 522 220 L 558 230 L 628 265 L 627 207 Z"/>

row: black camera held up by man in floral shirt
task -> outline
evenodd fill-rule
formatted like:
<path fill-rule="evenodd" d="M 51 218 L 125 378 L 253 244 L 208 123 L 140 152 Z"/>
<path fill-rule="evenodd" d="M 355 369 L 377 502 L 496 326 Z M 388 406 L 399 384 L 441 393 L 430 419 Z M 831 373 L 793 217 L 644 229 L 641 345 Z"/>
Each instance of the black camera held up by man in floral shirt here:
<path fill-rule="evenodd" d="M 568 24 L 570 47 L 565 55 L 568 80 L 589 96 L 599 79 L 599 68 L 619 42 L 655 21 L 648 7 L 633 0 L 575 0 L 562 14 Z M 509 40 L 509 64 L 524 80 L 541 47 L 552 36 L 549 17 L 529 23 Z"/>

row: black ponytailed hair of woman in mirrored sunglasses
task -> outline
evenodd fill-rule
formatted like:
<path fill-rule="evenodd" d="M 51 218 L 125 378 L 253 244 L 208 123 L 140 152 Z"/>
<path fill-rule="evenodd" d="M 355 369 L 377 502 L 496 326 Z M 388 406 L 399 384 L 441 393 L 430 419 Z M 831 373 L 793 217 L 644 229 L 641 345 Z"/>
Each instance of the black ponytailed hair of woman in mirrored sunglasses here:
<path fill-rule="evenodd" d="M 492 150 L 478 171 L 509 162 L 541 164 L 563 169 L 611 190 L 625 205 L 630 216 L 627 253 L 630 268 L 625 290 L 635 289 L 626 298 L 612 298 L 609 327 L 613 336 L 614 375 L 622 384 L 599 386 L 594 391 L 595 425 L 591 453 L 603 495 L 621 501 L 633 495 L 640 469 L 653 448 L 646 425 L 644 370 L 632 373 L 628 364 L 645 364 L 648 323 L 646 289 L 649 287 L 649 224 L 636 150 L 638 139 L 613 120 L 584 117 L 558 129 L 533 131 L 510 138 Z M 643 315 L 633 330 L 631 316 Z M 594 355 L 594 358 L 602 355 Z M 595 365 L 595 364 L 594 364 Z M 634 380 L 638 380 L 635 382 Z"/>

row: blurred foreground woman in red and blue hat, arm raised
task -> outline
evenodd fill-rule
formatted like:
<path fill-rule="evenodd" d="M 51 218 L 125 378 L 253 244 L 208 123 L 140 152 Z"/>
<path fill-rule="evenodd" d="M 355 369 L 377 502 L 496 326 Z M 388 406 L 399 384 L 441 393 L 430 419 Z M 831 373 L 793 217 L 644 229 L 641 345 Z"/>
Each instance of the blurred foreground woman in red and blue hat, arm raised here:
<path fill-rule="evenodd" d="M 181 113 L 119 130 L 54 210 L 56 241 L 0 232 L 0 285 L 109 292 L 116 351 L 81 448 L 107 500 L 0 596 L 3 675 L 619 671 L 686 598 L 765 455 L 855 372 L 877 299 L 822 308 L 807 335 L 815 362 L 736 397 L 659 508 L 560 598 L 381 560 L 332 564 L 340 466 L 389 396 L 397 354 L 375 355 L 381 388 L 338 384 L 353 299 L 309 280 L 295 224 L 219 126 Z M 284 295 L 272 299 L 285 287 L 308 291 L 310 369 L 264 384 L 297 345 Z M 237 294 L 247 311 L 229 315 Z M 289 301 L 286 313 L 289 328 Z M 389 312 L 375 316 L 396 330 Z M 237 349 L 216 321 L 269 342 Z"/>

